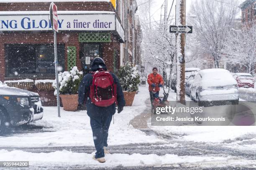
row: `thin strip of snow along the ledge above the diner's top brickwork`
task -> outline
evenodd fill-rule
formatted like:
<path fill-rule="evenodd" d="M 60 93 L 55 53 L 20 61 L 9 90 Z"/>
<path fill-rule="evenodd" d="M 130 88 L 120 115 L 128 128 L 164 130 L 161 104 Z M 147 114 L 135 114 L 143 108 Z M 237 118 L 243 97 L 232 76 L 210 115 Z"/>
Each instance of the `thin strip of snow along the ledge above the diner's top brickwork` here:
<path fill-rule="evenodd" d="M 53 2 L 53 0 L 1 0 L 0 3 L 13 2 Z M 110 2 L 110 0 L 54 0 L 54 2 Z"/>

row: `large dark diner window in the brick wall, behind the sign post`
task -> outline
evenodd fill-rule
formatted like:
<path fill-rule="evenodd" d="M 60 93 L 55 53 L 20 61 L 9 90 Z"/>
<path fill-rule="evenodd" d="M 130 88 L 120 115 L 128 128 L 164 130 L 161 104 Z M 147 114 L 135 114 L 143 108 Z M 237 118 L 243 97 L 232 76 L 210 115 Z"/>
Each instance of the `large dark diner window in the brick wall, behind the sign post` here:
<path fill-rule="evenodd" d="M 64 45 L 57 45 L 59 66 L 64 68 Z M 54 45 L 5 45 L 6 75 L 55 74 Z"/>

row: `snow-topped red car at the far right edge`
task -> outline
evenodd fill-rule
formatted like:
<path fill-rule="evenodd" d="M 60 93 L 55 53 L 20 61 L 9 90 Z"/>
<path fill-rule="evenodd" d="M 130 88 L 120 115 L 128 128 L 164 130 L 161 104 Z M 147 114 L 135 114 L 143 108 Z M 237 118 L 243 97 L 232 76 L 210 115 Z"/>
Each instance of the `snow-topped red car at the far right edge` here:
<path fill-rule="evenodd" d="M 238 72 L 233 75 L 238 83 L 238 87 L 253 87 L 254 88 L 254 78 L 249 73 Z"/>

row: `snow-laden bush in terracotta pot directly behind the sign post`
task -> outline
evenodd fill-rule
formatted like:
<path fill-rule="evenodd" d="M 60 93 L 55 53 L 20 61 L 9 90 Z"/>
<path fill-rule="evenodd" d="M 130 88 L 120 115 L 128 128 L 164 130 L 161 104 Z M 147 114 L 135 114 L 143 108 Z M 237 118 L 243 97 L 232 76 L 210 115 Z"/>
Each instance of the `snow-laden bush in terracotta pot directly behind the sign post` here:
<path fill-rule="evenodd" d="M 59 93 L 62 95 L 69 94 L 77 94 L 80 81 L 83 78 L 83 72 L 78 71 L 77 67 L 74 66 L 70 71 L 64 71 L 59 73 Z M 57 86 L 56 79 L 52 84 L 54 87 L 54 95 L 57 94 Z"/>

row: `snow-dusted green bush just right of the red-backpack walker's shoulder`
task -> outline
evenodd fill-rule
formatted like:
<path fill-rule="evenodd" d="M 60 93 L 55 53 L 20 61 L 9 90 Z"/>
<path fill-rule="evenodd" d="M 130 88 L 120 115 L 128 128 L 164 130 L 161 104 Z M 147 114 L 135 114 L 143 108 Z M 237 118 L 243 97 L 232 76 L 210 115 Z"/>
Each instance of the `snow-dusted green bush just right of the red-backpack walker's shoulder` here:
<path fill-rule="evenodd" d="M 118 79 L 123 90 L 128 92 L 137 91 L 141 82 L 137 67 L 132 67 L 131 63 L 126 63 L 126 65 L 120 67 Z"/>

